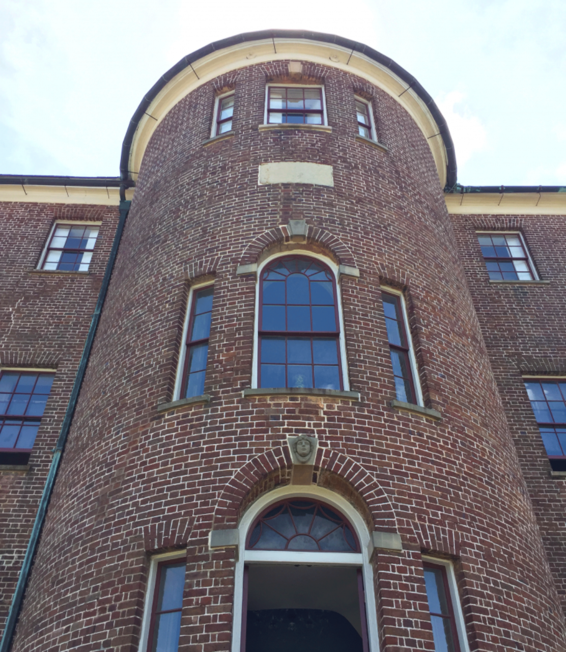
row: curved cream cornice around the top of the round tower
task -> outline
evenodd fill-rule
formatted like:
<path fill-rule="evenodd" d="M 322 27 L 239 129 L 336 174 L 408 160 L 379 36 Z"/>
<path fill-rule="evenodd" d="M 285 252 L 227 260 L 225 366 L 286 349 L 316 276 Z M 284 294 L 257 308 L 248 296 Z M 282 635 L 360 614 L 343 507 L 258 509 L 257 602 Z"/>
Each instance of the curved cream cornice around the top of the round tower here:
<path fill-rule="evenodd" d="M 279 32 L 279 34 L 281 33 L 283 32 Z M 432 115 L 431 108 L 432 111 L 436 111 L 438 117 L 442 118 L 442 116 L 432 99 L 428 98 L 427 105 L 423 97 L 419 96 L 415 90 L 417 87 L 420 88 L 416 80 L 410 86 L 401 76 L 393 72 L 391 68 L 396 68 L 400 73 L 403 68 L 397 66 L 391 59 L 379 55 L 389 64 L 379 63 L 375 58 L 360 52 L 363 49 L 367 49 L 369 52 L 369 48 L 363 46 L 354 50 L 354 48 L 348 48 L 335 42 L 336 40 L 346 41 L 345 39 L 338 39 L 338 37 L 331 37 L 330 35 L 317 35 L 317 40 L 313 40 L 299 37 L 285 38 L 277 35 L 275 37 L 266 37 L 266 33 L 263 32 L 261 33 L 262 38 L 254 40 L 253 37 L 253 34 L 234 37 L 229 41 L 236 42 L 227 47 L 208 52 L 201 57 L 198 56 L 199 53 L 197 52 L 195 53 L 197 58 L 194 60 L 185 57 L 184 60 L 177 64 L 177 67 L 182 69 L 163 85 L 150 102 L 149 98 L 147 101 L 142 102 L 135 114 L 139 115 L 135 133 L 133 136 L 130 131 L 126 134 L 122 147 L 122 178 L 125 178 L 127 173 L 129 178 L 135 180 L 135 175 L 139 172 L 143 155 L 153 132 L 167 113 L 191 91 L 231 70 L 257 63 L 266 63 L 267 61 L 298 59 L 358 75 L 388 93 L 411 115 L 427 139 L 442 188 L 447 183 L 448 168 L 450 168 L 450 174 L 454 177 L 452 183 L 455 183 L 455 159 L 453 154 L 451 157 L 447 154 L 447 146 L 453 151 L 453 145 L 446 123 L 438 125 Z M 323 38 L 328 38 L 328 42 Z M 406 74 L 405 71 L 403 73 Z M 166 78 L 166 76 L 164 77 Z M 160 83 L 162 82 L 158 82 L 156 87 Z M 151 93 L 152 91 L 148 95 L 151 96 Z M 424 89 L 421 95 L 427 96 Z M 134 116 L 132 125 L 135 125 L 135 122 Z M 444 132 L 447 139 L 446 145 L 444 138 L 440 135 L 441 131 Z M 130 139 L 131 144 L 129 144 Z M 127 171 L 124 169 L 126 167 Z"/>

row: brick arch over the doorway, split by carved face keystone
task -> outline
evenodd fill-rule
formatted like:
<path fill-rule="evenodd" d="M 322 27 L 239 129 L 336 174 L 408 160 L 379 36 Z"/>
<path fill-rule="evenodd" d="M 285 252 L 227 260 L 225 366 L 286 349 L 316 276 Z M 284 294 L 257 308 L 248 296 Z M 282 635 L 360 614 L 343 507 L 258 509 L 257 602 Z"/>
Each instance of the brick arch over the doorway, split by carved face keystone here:
<path fill-rule="evenodd" d="M 375 477 L 358 462 L 343 453 L 328 448 L 318 448 L 316 466 L 336 473 L 348 481 L 367 506 L 373 527 L 381 531 L 396 532 L 397 516 L 387 494 Z M 214 529 L 229 529 L 238 526 L 242 502 L 269 473 L 290 467 L 291 459 L 287 447 L 277 447 L 258 455 L 242 466 L 225 485 L 213 516 Z M 300 490 L 300 487 L 297 487 Z"/>

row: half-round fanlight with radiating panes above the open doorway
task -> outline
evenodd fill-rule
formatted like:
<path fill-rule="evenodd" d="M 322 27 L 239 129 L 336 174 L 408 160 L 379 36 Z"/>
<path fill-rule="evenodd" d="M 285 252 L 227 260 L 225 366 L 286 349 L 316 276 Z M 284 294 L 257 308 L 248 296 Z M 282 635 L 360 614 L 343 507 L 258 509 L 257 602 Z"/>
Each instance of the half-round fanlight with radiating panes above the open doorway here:
<path fill-rule="evenodd" d="M 327 505 L 288 500 L 270 507 L 251 528 L 248 550 L 360 552 L 347 520 Z"/>

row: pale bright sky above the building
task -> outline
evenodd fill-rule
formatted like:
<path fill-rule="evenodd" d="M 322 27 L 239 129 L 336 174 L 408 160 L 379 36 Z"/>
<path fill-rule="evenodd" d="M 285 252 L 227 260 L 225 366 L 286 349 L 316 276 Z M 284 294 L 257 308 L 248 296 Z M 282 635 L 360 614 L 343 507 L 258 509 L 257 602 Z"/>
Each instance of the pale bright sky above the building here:
<path fill-rule="evenodd" d="M 565 0 L 0 0 L 0 173 L 119 175 L 163 72 L 259 29 L 351 38 L 416 76 L 462 185 L 566 186 Z"/>

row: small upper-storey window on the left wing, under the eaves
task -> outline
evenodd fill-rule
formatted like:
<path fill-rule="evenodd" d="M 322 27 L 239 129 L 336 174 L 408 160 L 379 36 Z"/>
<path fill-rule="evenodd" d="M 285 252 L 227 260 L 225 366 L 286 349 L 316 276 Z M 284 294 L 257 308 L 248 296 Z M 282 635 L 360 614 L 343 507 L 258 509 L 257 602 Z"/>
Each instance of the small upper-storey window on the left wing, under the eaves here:
<path fill-rule="evenodd" d="M 39 269 L 87 272 L 100 224 L 56 222 L 42 252 Z"/>

